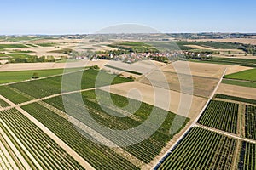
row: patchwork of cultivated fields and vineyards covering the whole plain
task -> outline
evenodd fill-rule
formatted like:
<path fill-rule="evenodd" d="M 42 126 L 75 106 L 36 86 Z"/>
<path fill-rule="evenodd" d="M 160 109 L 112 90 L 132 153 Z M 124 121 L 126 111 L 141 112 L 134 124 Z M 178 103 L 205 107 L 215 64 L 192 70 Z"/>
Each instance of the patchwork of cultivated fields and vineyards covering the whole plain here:
<path fill-rule="evenodd" d="M 154 37 L 143 42 L 97 38 L 8 37 L 0 42 L 0 60 L 125 48 L 166 53 L 177 47 L 189 57 L 195 53 L 195 59 L 140 61 L 142 54 L 125 52 L 121 58 L 135 56 L 137 62 L 103 56 L 72 59 L 68 65 L 66 60 L 0 65 L 0 169 L 255 169 L 256 60 L 245 54 L 248 45 L 218 42 L 236 39 L 176 45 Z M 207 53 L 217 57 L 197 59 Z M 89 68 L 93 65 L 102 71 Z M 64 68 L 69 89 L 62 91 Z M 39 79 L 31 80 L 34 72 Z M 152 111 L 157 115 L 145 124 Z M 148 139 L 119 146 L 144 136 L 160 119 Z M 124 133 L 140 125 L 143 133 Z"/>

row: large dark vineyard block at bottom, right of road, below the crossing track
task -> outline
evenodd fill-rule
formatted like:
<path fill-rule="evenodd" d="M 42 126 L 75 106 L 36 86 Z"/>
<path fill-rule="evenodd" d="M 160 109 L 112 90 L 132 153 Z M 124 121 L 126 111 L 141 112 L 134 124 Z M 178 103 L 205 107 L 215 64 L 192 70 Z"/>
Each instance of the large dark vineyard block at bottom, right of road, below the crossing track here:
<path fill-rule="evenodd" d="M 236 139 L 193 127 L 156 169 L 231 169 Z"/>

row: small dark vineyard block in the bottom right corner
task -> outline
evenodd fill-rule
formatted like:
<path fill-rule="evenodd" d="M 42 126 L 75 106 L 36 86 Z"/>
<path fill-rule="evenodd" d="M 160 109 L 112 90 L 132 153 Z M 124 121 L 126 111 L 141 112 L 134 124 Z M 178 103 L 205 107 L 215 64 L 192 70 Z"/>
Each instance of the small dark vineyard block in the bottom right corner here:
<path fill-rule="evenodd" d="M 242 142 L 240 160 L 238 169 L 253 170 L 256 169 L 256 144 Z"/>

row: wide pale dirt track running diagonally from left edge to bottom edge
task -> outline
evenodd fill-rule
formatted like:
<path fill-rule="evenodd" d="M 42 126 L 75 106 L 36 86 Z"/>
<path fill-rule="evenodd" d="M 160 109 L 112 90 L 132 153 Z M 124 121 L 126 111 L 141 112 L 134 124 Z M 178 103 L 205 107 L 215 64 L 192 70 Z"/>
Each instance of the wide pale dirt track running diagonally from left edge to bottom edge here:
<path fill-rule="evenodd" d="M 1 95 L 0 95 L 1 97 Z M 3 96 L 2 96 L 3 98 Z M 4 99 L 4 98 L 3 98 Z M 9 99 L 4 99 L 7 103 L 9 103 L 9 105 L 15 105 L 14 103 L 12 103 L 11 101 L 9 101 Z M 44 127 L 44 125 L 41 122 L 38 122 L 37 119 L 35 119 L 33 116 L 31 116 L 29 113 L 27 113 L 26 111 L 22 110 L 20 108 L 20 106 L 15 105 L 15 109 L 17 111 L 20 111 L 20 113 L 22 113 L 24 116 L 26 116 L 30 121 L 32 121 L 34 124 L 36 124 L 44 133 L 46 133 L 51 139 L 53 139 L 55 141 L 56 144 L 59 144 L 61 146 L 62 149 L 64 149 L 70 156 L 73 156 L 73 158 L 79 162 L 79 164 L 81 166 L 83 166 L 85 169 L 94 169 L 94 167 L 91 167 L 90 164 L 87 161 L 84 161 L 84 159 L 79 156 L 79 154 L 77 154 L 73 149 L 71 149 L 67 144 L 65 144 L 61 139 L 59 139 L 54 133 L 52 133 L 47 127 Z M 1 121 L 3 122 L 3 121 Z M 4 122 L 3 122 L 4 123 Z M 8 127 L 7 127 L 8 128 Z M 12 133 L 12 132 L 9 132 Z M 14 133 L 12 133 L 14 134 Z M 12 135 L 13 136 L 13 135 Z M 17 139 L 17 138 L 16 138 Z M 19 142 L 19 144 L 21 144 Z M 24 146 L 22 146 L 22 148 L 26 149 Z M 30 154 L 28 152 L 28 154 Z M 31 155 L 28 155 L 31 156 Z M 33 160 L 33 159 L 32 159 Z M 34 161 L 34 160 L 33 160 Z M 36 166 L 38 165 L 38 162 L 36 162 Z M 40 167 L 40 166 L 39 166 Z M 42 167 L 41 167 L 42 168 Z"/>

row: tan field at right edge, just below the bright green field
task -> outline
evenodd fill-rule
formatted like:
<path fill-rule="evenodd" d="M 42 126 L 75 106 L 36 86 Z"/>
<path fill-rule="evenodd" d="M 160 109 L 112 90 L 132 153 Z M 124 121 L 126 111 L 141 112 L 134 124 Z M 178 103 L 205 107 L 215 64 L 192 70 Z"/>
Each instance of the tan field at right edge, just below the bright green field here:
<path fill-rule="evenodd" d="M 256 99 L 256 88 L 247 88 L 230 84 L 221 84 L 218 94 L 231 95 L 247 99 Z"/>

